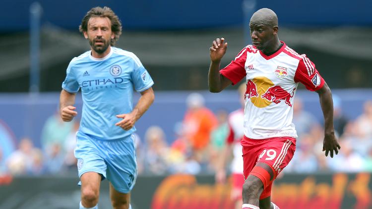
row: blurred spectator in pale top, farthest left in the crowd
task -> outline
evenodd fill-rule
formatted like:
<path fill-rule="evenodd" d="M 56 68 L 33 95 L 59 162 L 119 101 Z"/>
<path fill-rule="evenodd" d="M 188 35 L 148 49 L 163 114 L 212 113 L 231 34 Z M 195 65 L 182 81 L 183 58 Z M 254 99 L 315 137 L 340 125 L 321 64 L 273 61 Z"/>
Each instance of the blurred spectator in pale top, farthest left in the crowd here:
<path fill-rule="evenodd" d="M 13 175 L 33 174 L 35 157 L 39 157 L 38 154 L 40 154 L 40 151 L 34 147 L 31 139 L 27 137 L 20 140 L 18 147 L 6 159 L 8 171 Z M 40 163 L 43 164 L 42 162 Z"/>

